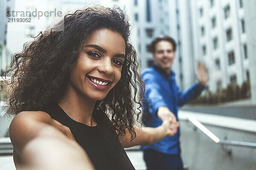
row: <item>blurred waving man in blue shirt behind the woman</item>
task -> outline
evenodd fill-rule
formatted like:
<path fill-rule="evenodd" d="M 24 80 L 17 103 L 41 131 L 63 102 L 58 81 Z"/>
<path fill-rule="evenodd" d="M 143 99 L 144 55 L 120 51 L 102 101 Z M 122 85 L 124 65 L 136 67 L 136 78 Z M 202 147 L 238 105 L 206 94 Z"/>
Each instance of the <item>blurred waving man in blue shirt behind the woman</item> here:
<path fill-rule="evenodd" d="M 198 82 L 187 91 L 181 91 L 176 84 L 172 63 L 175 59 L 176 44 L 168 36 L 155 38 L 150 45 L 154 65 L 147 68 L 142 78 L 145 82 L 143 100 L 143 123 L 148 127 L 158 127 L 165 119 L 179 120 L 178 107 L 195 99 L 207 84 L 207 68 L 198 62 Z M 192 63 L 190 63 L 192 64 Z M 172 128 L 172 127 L 170 127 Z M 143 156 L 148 170 L 183 170 L 180 156 L 180 129 L 174 136 L 160 142 L 143 146 Z"/>

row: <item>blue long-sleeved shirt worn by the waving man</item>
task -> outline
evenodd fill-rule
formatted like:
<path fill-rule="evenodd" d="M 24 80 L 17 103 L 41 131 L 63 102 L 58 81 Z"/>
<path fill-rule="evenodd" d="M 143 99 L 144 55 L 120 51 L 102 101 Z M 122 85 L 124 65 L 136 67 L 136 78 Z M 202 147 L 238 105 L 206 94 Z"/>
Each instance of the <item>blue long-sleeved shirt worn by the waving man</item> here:
<path fill-rule="evenodd" d="M 155 65 L 147 68 L 142 79 L 145 82 L 145 95 L 143 99 L 143 123 L 147 127 L 158 127 L 163 122 L 157 116 L 157 109 L 166 106 L 175 114 L 177 121 L 178 107 L 196 98 L 204 90 L 198 82 L 193 84 L 187 91 L 181 91 L 175 81 L 175 73 L 165 75 Z M 152 149 L 166 154 L 180 153 L 180 128 L 174 136 L 167 136 L 161 141 L 142 146 L 141 149 Z"/>

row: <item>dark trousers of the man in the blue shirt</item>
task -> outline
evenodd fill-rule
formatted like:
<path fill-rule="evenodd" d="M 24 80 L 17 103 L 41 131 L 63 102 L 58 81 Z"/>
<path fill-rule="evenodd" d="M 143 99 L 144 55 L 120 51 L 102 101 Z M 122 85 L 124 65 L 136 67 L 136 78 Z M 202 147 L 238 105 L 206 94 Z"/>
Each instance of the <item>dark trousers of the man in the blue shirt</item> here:
<path fill-rule="evenodd" d="M 147 170 L 183 170 L 180 154 L 168 155 L 155 150 L 144 150 L 143 158 L 147 165 Z"/>

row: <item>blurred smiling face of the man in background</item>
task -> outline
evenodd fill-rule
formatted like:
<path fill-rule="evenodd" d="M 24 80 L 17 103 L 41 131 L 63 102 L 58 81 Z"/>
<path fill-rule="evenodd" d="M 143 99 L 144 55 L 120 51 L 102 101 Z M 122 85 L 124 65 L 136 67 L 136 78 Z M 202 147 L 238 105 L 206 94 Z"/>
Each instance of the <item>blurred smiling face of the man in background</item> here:
<path fill-rule="evenodd" d="M 160 41 L 155 45 L 155 52 L 153 54 L 154 62 L 160 68 L 169 70 L 172 62 L 175 59 L 175 51 L 169 41 Z"/>

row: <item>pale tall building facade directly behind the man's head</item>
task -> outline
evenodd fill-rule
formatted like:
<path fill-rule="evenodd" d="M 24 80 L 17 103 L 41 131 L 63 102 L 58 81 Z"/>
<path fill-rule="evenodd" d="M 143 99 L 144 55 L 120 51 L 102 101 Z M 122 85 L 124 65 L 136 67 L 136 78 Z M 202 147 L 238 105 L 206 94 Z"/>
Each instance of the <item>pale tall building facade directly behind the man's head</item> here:
<path fill-rule="evenodd" d="M 131 24 L 136 37 L 134 45 L 140 59 L 141 70 L 153 62 L 152 54 L 148 51 L 152 40 L 161 35 L 169 35 L 177 42 L 176 59 L 172 69 L 176 73 L 178 84 L 183 86 L 183 51 L 180 50 L 179 42 L 184 37 L 181 37 L 182 30 L 177 29 L 181 28 L 179 5 L 179 1 L 176 0 L 132 0 L 127 10 L 131 14 Z"/>

